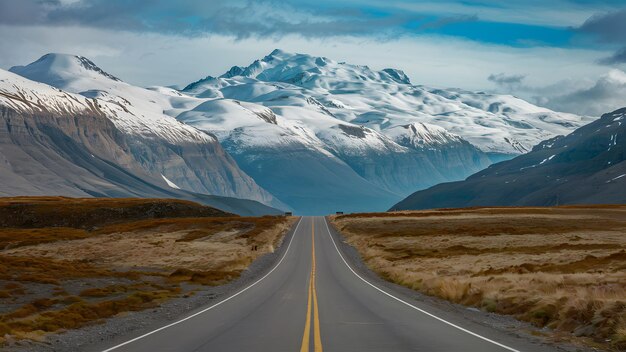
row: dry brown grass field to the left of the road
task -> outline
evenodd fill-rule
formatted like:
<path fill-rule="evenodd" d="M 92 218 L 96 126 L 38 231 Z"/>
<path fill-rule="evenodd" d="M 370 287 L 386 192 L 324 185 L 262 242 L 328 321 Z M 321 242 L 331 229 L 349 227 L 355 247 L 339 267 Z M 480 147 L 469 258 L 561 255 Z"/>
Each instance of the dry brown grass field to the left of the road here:
<path fill-rule="evenodd" d="M 177 200 L 0 199 L 0 346 L 226 283 L 294 220 Z"/>

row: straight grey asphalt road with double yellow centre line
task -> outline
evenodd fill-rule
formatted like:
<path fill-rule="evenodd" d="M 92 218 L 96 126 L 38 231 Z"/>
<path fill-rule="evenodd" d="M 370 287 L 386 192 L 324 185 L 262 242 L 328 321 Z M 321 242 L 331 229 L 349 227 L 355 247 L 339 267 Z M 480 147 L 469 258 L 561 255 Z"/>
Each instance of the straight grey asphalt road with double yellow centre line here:
<path fill-rule="evenodd" d="M 105 351 L 552 351 L 376 284 L 338 241 L 325 218 L 304 217 L 250 286 Z"/>

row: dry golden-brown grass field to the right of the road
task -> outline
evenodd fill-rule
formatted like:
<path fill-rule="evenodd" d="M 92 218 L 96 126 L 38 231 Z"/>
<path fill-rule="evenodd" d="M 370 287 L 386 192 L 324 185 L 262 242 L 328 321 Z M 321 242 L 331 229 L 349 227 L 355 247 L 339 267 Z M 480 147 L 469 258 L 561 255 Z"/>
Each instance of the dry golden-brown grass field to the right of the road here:
<path fill-rule="evenodd" d="M 626 206 L 351 214 L 332 223 L 382 277 L 626 349 Z"/>

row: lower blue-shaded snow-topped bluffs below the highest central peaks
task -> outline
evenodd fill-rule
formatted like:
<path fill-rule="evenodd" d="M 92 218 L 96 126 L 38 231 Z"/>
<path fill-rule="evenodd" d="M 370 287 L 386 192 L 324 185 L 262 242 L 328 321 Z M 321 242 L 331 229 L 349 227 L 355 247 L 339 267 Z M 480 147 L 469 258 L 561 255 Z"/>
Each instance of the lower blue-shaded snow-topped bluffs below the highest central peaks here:
<path fill-rule="evenodd" d="M 178 119 L 214 133 L 260 185 L 295 209 L 313 213 L 382 209 L 416 188 L 458 179 L 489 164 L 484 153 L 436 126 L 421 130 L 436 131 L 436 137 L 403 146 L 371 128 L 330 116 L 314 98 L 302 100 L 268 107 L 212 99 Z M 458 162 L 433 163 L 429 153 Z"/>

